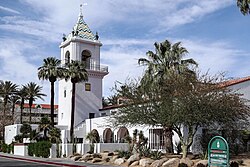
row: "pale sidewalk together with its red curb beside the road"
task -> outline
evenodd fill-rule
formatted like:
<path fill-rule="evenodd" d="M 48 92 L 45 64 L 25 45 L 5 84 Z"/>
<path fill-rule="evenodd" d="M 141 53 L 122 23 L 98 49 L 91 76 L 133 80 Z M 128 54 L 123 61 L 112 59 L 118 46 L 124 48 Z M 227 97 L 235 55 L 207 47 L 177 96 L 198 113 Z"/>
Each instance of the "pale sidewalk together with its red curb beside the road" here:
<path fill-rule="evenodd" d="M 99 164 L 88 164 L 84 162 L 75 162 L 73 160 L 67 160 L 63 158 L 39 158 L 31 156 L 20 156 L 0 152 L 0 157 L 11 158 L 16 160 L 23 160 L 28 162 L 36 162 L 40 164 L 49 164 L 49 165 L 58 165 L 58 166 L 69 166 L 69 167 L 113 167 L 108 165 L 99 165 Z"/>

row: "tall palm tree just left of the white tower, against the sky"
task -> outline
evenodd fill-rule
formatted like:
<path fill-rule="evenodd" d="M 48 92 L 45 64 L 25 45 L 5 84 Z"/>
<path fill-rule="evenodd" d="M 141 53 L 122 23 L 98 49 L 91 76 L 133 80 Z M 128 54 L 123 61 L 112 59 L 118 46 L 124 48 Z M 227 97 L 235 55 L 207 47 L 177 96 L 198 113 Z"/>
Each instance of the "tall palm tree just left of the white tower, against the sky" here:
<path fill-rule="evenodd" d="M 50 106 L 51 106 L 51 125 L 54 126 L 54 85 L 58 78 L 62 77 L 63 68 L 60 67 L 61 61 L 55 57 L 48 57 L 43 60 L 43 65 L 38 68 L 38 78 L 49 80 L 50 82 Z"/>

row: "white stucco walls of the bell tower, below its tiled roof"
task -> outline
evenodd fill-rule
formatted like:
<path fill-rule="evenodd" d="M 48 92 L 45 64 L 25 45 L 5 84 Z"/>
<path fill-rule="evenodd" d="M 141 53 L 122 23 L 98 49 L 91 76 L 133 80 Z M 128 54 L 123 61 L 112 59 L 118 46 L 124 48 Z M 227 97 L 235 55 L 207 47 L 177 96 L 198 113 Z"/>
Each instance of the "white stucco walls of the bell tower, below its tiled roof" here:
<path fill-rule="evenodd" d="M 91 52 L 91 63 L 99 67 L 101 45 L 99 41 L 73 37 L 60 45 L 61 60 L 65 63 L 65 54 L 69 51 L 71 60 L 81 61 L 82 51 L 88 50 Z M 99 109 L 102 108 L 102 79 L 107 73 L 98 71 L 98 69 L 87 71 L 88 81 L 76 85 L 75 126 L 89 118 L 89 113 L 95 113 L 95 117 L 98 117 Z M 91 84 L 91 91 L 85 90 L 85 83 Z M 66 90 L 66 97 L 64 97 L 64 90 Z M 64 80 L 59 81 L 58 125 L 66 125 L 68 129 L 70 129 L 71 122 L 71 96 L 72 83 Z"/>

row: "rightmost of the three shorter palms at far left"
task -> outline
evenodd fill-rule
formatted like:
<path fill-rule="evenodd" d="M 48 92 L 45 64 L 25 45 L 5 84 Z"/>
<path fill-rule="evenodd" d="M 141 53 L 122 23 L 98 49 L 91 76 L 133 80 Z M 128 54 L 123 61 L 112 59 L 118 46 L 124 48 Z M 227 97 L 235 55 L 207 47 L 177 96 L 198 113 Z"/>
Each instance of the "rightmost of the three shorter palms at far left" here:
<path fill-rule="evenodd" d="M 30 111 L 30 118 L 29 122 L 31 123 L 31 107 L 33 105 L 33 102 L 39 98 L 43 100 L 43 96 L 46 96 L 45 94 L 41 93 L 42 87 L 37 85 L 34 82 L 29 82 L 24 86 L 24 91 L 27 95 L 27 99 L 29 100 L 29 111 Z"/>

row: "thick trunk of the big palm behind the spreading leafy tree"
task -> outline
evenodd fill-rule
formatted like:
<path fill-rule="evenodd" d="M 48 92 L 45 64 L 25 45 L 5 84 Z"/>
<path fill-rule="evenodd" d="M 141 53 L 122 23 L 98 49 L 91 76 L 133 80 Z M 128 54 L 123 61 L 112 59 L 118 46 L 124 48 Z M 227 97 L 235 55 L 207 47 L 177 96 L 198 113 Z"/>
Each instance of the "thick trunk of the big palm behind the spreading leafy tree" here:
<path fill-rule="evenodd" d="M 173 141 L 172 141 L 172 136 L 173 136 L 172 128 L 171 127 L 164 127 L 163 128 L 163 135 L 165 138 L 164 145 L 166 148 L 166 153 L 174 153 Z"/>

